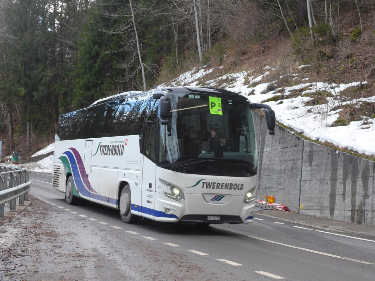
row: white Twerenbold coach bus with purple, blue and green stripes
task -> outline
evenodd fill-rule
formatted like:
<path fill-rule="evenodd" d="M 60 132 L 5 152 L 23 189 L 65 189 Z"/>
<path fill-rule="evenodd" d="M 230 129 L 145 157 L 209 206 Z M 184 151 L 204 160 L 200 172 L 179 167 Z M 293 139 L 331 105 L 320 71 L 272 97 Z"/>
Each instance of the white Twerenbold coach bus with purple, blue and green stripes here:
<path fill-rule="evenodd" d="M 85 199 L 167 222 L 251 223 L 257 183 L 252 109 L 239 94 L 206 87 L 127 92 L 60 116 L 52 185 L 68 204 Z"/>

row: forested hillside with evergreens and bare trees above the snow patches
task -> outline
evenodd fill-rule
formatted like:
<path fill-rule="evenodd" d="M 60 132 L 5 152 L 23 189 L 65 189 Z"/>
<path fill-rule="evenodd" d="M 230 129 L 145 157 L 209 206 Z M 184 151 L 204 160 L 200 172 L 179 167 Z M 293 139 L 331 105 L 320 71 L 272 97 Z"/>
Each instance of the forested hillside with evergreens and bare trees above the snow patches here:
<path fill-rule="evenodd" d="M 197 65 L 231 73 L 280 60 L 309 64 L 320 81 L 366 80 L 360 94 L 374 96 L 374 6 L 374 0 L 0 0 L 3 156 L 16 150 L 25 158 L 51 143 L 60 114 L 150 89 Z M 280 71 L 287 75 L 291 67 Z"/>

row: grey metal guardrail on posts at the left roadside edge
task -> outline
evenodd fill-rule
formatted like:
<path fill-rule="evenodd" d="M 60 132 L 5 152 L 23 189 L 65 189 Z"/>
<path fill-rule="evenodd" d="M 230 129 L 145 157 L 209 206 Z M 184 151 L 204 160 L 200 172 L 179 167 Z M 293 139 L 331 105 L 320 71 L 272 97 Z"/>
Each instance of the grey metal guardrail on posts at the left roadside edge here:
<path fill-rule="evenodd" d="M 30 184 L 26 169 L 0 166 L 0 220 L 4 218 L 5 203 L 10 202 L 9 211 L 16 211 L 17 197 L 18 205 L 24 205 Z"/>

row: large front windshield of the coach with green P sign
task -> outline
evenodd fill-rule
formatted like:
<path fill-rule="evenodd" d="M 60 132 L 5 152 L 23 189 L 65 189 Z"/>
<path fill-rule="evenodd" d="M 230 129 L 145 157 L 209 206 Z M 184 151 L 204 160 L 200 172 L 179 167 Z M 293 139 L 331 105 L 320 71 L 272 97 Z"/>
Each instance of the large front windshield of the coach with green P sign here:
<path fill-rule="evenodd" d="M 169 98 L 169 124 L 159 123 L 159 166 L 206 175 L 256 174 L 250 103 L 201 93 L 171 93 Z"/>

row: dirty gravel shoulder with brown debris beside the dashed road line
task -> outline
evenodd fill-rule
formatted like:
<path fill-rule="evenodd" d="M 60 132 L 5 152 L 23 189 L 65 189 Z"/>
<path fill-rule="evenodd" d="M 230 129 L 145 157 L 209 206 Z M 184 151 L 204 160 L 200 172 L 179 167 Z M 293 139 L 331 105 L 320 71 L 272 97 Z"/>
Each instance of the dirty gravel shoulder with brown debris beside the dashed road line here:
<path fill-rule="evenodd" d="M 199 259 L 30 199 L 0 225 L 0 280 L 217 280 Z"/>

